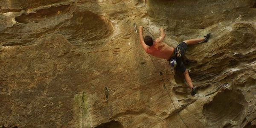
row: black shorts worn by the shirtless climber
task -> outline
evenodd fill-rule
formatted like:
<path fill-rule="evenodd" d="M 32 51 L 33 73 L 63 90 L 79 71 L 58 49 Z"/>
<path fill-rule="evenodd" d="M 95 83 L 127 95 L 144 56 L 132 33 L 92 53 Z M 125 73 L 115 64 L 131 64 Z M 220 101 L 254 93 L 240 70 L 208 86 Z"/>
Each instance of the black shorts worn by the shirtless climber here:
<path fill-rule="evenodd" d="M 180 52 L 181 52 L 181 56 L 178 57 L 177 56 L 177 49 L 175 49 L 175 59 L 176 59 L 176 62 L 177 62 L 177 66 L 175 67 L 175 70 L 178 70 L 182 73 L 185 73 L 186 71 L 186 67 L 185 65 L 183 64 L 182 62 L 182 58 L 183 58 L 183 55 L 185 54 L 186 52 L 186 49 L 187 49 L 187 44 L 185 42 L 181 42 L 178 46 L 177 46 L 178 49 L 180 49 Z M 174 57 L 173 57 L 174 58 Z"/>

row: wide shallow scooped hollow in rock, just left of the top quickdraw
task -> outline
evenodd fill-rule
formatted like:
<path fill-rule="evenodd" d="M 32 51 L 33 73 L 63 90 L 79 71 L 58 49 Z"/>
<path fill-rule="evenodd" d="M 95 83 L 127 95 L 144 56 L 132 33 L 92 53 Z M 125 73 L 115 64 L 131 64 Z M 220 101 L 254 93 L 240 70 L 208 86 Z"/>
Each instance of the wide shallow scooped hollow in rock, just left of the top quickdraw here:
<path fill-rule="evenodd" d="M 84 42 L 106 38 L 113 31 L 113 24 L 108 19 L 90 11 L 73 13 L 69 24 L 63 23 L 58 29 L 58 33 L 64 35 L 71 44 L 76 46 L 85 44 L 90 49 L 95 47 L 95 44 Z"/>

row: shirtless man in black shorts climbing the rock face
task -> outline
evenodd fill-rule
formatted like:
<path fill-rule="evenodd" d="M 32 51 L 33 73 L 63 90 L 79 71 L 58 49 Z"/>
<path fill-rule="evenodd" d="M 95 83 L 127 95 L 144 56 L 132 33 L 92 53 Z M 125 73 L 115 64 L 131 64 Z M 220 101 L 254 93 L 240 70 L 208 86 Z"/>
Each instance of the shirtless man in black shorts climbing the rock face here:
<path fill-rule="evenodd" d="M 185 76 L 186 82 L 189 84 L 189 87 L 192 90 L 191 95 L 194 96 L 195 89 L 189 76 L 189 72 L 186 70 L 186 67 L 182 62 L 182 57 L 186 51 L 187 45 L 198 44 L 199 42 L 207 42 L 211 34 L 207 34 L 204 36 L 204 38 L 195 38 L 183 41 L 176 48 L 174 48 L 169 47 L 167 44 L 163 43 L 165 32 L 163 32 L 163 28 L 160 28 L 159 30 L 161 32 L 160 37 L 153 41 L 150 36 L 145 36 L 145 38 L 143 38 L 143 26 L 140 26 L 140 44 L 142 45 L 145 52 L 155 57 L 166 59 L 169 61 L 170 65 L 175 68 L 175 70 L 182 72 Z"/>

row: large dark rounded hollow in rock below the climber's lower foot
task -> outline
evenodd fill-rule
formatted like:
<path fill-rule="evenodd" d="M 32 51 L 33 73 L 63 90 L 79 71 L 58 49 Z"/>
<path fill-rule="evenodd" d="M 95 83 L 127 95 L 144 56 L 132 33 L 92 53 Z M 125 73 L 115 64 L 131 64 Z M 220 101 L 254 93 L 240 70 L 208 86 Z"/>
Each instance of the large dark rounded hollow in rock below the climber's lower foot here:
<path fill-rule="evenodd" d="M 234 122 L 241 123 L 245 118 L 245 102 L 242 93 L 226 89 L 217 93 L 211 102 L 204 105 L 204 118 L 211 127 L 236 125 Z"/>

